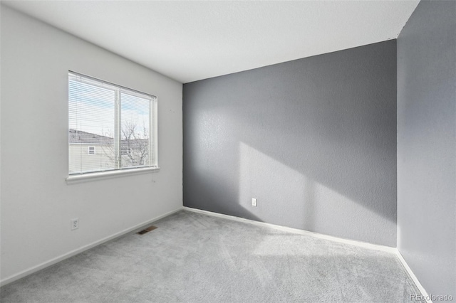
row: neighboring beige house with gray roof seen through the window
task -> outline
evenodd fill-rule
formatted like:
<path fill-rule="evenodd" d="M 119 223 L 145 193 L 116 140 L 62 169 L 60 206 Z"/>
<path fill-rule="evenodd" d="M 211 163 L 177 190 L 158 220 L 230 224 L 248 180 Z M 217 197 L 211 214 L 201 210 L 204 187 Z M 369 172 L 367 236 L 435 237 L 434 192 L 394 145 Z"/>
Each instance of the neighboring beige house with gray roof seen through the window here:
<path fill-rule="evenodd" d="M 68 132 L 69 173 L 107 171 L 115 168 L 112 137 L 70 129 Z M 145 166 L 149 162 L 149 139 L 122 139 L 121 165 Z"/>

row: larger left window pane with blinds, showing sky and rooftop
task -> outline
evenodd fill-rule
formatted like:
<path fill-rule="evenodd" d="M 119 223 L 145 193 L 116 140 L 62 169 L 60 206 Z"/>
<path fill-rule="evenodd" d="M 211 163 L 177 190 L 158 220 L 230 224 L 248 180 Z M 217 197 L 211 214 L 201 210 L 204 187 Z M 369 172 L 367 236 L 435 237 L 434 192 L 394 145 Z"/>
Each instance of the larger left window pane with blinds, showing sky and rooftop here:
<path fill-rule="evenodd" d="M 68 107 L 69 174 L 114 169 L 115 90 L 70 74 Z"/>

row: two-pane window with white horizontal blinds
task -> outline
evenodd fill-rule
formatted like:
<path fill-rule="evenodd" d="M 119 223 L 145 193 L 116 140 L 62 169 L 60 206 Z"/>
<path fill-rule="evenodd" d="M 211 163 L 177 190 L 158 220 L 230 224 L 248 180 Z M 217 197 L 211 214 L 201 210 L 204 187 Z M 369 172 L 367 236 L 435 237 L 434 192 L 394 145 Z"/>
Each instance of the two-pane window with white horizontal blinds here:
<path fill-rule="evenodd" d="M 69 72 L 68 113 L 70 176 L 157 168 L 157 97 Z"/>

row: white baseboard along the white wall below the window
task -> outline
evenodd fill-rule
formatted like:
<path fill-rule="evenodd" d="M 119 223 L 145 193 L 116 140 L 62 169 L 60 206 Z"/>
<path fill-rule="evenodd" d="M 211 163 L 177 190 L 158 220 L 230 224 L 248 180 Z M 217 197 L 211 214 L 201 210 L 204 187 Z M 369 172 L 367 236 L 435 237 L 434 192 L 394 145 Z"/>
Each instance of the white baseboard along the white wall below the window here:
<path fill-rule="evenodd" d="M 97 241 L 95 241 L 93 243 L 90 243 L 88 245 L 84 245 L 83 247 L 77 248 L 76 250 L 71 250 L 71 252 L 67 252 L 66 254 L 60 255 L 58 257 L 54 257 L 51 260 L 48 260 L 46 262 L 42 262 L 41 264 L 38 264 L 38 265 L 33 266 L 33 267 L 30 267 L 27 270 L 23 270 L 23 271 L 15 274 L 15 275 L 11 275 L 9 277 L 6 277 L 4 280 L 0 281 L 0 286 L 7 285 L 7 284 L 9 284 L 11 282 L 14 282 L 16 280 L 21 279 L 22 277 L 26 277 L 28 275 L 31 275 L 31 274 L 33 274 L 33 272 L 38 272 L 39 270 L 43 270 L 46 267 L 49 267 L 49 266 L 54 265 L 54 264 L 56 264 L 58 262 L 61 262 L 63 260 L 68 259 L 68 257 L 73 257 L 73 255 L 78 255 L 79 253 L 81 253 L 81 252 L 83 252 L 85 250 L 88 250 L 88 249 L 93 248 L 93 247 L 95 247 L 97 245 L 103 244 L 105 242 L 108 242 L 109 240 L 113 240 L 115 238 L 118 238 L 121 235 L 125 235 L 125 233 L 130 233 L 130 232 L 132 232 L 134 230 L 140 230 L 145 225 L 148 225 L 148 224 L 153 223 L 153 222 L 155 222 L 157 220 L 160 220 L 162 218 L 170 216 L 173 213 L 177 213 L 178 211 L 181 211 L 181 210 L 182 210 L 182 208 L 177 208 L 175 211 L 170 211 L 168 213 L 163 214 L 162 216 L 157 216 L 157 217 L 155 217 L 153 219 L 150 219 L 150 220 L 147 220 L 147 221 L 142 222 L 140 224 L 137 224 L 137 225 L 135 225 L 135 226 L 133 226 L 131 228 L 127 228 L 125 230 L 122 230 L 119 233 L 115 233 L 113 235 L 110 235 L 110 236 L 108 236 L 106 238 L 97 240 Z"/>

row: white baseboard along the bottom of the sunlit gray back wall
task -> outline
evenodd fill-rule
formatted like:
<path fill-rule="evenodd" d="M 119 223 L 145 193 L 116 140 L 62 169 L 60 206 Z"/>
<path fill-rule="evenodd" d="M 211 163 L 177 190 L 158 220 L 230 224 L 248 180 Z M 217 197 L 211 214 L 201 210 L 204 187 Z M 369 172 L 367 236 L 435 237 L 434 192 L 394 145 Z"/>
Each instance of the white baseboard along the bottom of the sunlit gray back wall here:
<path fill-rule="evenodd" d="M 297 228 L 289 228 L 289 227 L 281 226 L 281 225 L 275 225 L 275 224 L 264 223 L 264 222 L 259 222 L 259 221 L 255 221 L 255 220 L 249 220 L 249 219 L 244 219 L 244 218 L 239 218 L 239 217 L 234 217 L 234 216 L 228 216 L 228 215 L 224 215 L 222 213 L 212 213 L 211 211 L 202 211 L 200 209 L 189 208 L 187 206 L 184 206 L 184 209 L 186 211 L 192 211 L 194 213 L 204 213 L 205 215 L 209 215 L 209 216 L 225 218 L 225 219 L 229 219 L 229 220 L 235 220 L 235 221 L 239 221 L 239 222 L 249 223 L 249 224 L 252 224 L 252 225 L 266 226 L 266 227 L 269 227 L 269 228 L 274 228 L 276 230 L 284 230 L 284 231 L 287 231 L 289 233 L 298 233 L 300 235 L 309 235 L 309 236 L 314 237 L 314 238 L 331 240 L 333 242 L 338 242 L 338 243 L 346 243 L 346 244 L 350 244 L 350 245 L 359 246 L 361 248 L 368 248 L 368 249 L 371 249 L 371 250 L 380 250 L 380 251 L 383 251 L 383 252 L 390 252 L 390 253 L 394 253 L 394 254 L 397 251 L 396 248 L 390 248 L 389 246 L 385 246 L 385 245 L 378 245 L 378 244 L 372 244 L 372 243 L 367 243 L 367 242 L 362 242 L 362 241 L 357 241 L 357 240 L 349 240 L 349 239 L 344 239 L 344 238 L 338 238 L 338 237 L 334 237 L 332 235 L 323 235 L 321 233 L 313 233 L 313 232 L 307 231 L 307 230 L 301 230 L 301 229 L 297 229 Z"/>

